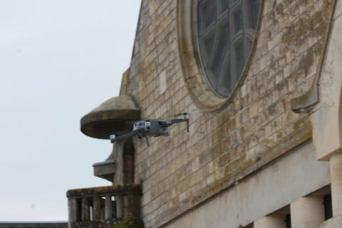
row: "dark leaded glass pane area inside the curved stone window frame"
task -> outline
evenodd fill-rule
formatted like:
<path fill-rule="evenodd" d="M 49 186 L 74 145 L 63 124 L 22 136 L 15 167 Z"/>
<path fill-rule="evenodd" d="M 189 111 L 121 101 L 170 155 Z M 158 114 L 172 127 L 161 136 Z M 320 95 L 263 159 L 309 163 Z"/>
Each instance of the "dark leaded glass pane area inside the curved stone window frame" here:
<path fill-rule="evenodd" d="M 260 0 L 198 0 L 197 40 L 212 89 L 229 96 L 252 47 Z"/>

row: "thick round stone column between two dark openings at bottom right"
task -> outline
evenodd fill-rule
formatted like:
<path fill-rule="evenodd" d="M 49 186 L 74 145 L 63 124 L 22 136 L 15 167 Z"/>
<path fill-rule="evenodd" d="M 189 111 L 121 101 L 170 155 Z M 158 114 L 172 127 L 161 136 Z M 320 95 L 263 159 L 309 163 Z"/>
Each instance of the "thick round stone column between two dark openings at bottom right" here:
<path fill-rule="evenodd" d="M 323 198 L 301 197 L 291 203 L 292 228 L 319 228 L 324 220 Z"/>

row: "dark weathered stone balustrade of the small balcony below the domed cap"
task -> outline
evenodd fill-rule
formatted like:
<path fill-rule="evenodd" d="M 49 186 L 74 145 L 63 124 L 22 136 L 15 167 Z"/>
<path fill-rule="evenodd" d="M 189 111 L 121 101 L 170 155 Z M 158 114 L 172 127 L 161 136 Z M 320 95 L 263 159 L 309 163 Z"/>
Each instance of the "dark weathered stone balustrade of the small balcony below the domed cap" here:
<path fill-rule="evenodd" d="M 140 216 L 140 185 L 68 190 L 69 227 L 103 227 L 128 215 Z"/>

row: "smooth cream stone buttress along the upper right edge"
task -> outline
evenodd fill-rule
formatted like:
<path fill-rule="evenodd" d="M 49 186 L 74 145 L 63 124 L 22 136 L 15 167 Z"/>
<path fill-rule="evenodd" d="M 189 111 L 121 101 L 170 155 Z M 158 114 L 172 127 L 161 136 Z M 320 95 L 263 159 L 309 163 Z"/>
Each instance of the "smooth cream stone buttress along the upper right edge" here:
<path fill-rule="evenodd" d="M 331 37 L 319 81 L 320 100 L 310 116 L 314 128 L 316 155 L 319 160 L 329 160 L 329 157 L 334 152 L 342 151 L 341 1 L 338 1 L 338 6 L 336 6 L 331 30 Z"/>

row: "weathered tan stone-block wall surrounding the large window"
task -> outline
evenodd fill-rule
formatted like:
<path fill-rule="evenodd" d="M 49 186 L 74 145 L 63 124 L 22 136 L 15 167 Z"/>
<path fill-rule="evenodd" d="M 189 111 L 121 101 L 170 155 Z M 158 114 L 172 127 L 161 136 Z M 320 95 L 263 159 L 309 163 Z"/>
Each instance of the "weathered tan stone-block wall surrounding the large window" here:
<path fill-rule="evenodd" d="M 142 216 L 160 227 L 311 138 L 291 99 L 306 93 L 321 66 L 333 0 L 266 0 L 249 71 L 232 102 L 205 113 L 185 86 L 177 47 L 177 1 L 142 0 L 130 93 L 142 119 L 190 113 L 150 147 L 135 139 Z M 165 90 L 166 83 L 166 90 Z"/>

